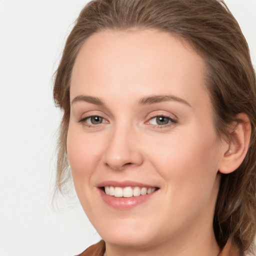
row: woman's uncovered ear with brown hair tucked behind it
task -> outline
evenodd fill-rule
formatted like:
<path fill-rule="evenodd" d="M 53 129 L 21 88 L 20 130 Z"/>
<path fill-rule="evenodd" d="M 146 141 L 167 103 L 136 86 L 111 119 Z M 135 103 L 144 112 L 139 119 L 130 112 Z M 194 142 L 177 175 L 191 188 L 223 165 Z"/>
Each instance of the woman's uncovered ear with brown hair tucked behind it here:
<path fill-rule="evenodd" d="M 219 172 L 230 173 L 242 163 L 249 147 L 251 125 L 245 113 L 239 113 L 231 131 L 231 138 L 224 142 Z"/>

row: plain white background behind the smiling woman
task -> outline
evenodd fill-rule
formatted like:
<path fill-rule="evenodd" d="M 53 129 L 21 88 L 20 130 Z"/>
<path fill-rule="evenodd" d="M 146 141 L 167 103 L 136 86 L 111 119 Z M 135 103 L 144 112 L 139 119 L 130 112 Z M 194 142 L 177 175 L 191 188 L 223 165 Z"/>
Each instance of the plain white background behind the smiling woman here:
<path fill-rule="evenodd" d="M 0 0 L 0 256 L 71 256 L 100 238 L 77 199 L 51 208 L 52 77 L 86 0 Z M 256 66 L 256 0 L 226 0 Z"/>

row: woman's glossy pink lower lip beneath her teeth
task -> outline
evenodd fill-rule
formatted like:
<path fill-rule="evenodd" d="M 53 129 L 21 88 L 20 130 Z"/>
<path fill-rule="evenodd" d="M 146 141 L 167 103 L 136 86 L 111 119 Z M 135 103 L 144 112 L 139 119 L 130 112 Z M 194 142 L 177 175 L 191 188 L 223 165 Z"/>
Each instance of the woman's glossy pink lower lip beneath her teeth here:
<path fill-rule="evenodd" d="M 109 206 L 117 209 L 131 209 L 148 199 L 150 199 L 158 190 L 145 195 L 131 196 L 131 197 L 115 197 L 107 195 L 102 189 L 99 189 L 101 198 Z"/>

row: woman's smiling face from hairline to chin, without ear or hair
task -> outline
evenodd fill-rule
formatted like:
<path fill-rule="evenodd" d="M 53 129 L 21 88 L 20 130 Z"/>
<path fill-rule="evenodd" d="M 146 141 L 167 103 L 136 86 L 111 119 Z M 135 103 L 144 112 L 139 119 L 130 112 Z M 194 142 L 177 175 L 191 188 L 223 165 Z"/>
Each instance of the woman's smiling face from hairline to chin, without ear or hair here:
<path fill-rule="evenodd" d="M 70 102 L 74 186 L 107 243 L 213 235 L 223 150 L 192 47 L 156 30 L 98 32 L 77 55 Z"/>

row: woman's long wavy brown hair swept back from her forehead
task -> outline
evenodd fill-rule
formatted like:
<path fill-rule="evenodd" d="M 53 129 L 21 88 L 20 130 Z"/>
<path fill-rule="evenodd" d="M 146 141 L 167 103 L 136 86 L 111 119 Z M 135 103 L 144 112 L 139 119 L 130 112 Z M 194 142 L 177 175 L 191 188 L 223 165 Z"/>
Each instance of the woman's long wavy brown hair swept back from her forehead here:
<path fill-rule="evenodd" d="M 200 54 L 219 137 L 227 124 L 246 113 L 252 133 L 242 164 L 222 174 L 213 227 L 220 247 L 227 239 L 241 252 L 252 250 L 256 230 L 256 86 L 248 45 L 235 18 L 217 0 L 93 0 L 81 10 L 56 71 L 54 99 L 63 109 L 58 143 L 56 189 L 64 192 L 70 178 L 66 155 L 69 86 L 72 67 L 84 41 L 103 29 L 158 29 L 185 40 Z"/>

